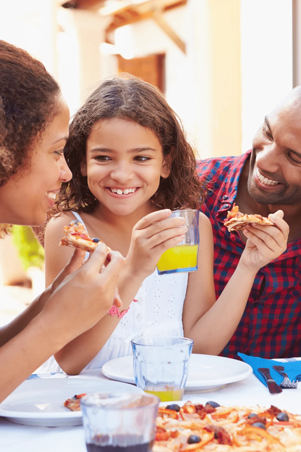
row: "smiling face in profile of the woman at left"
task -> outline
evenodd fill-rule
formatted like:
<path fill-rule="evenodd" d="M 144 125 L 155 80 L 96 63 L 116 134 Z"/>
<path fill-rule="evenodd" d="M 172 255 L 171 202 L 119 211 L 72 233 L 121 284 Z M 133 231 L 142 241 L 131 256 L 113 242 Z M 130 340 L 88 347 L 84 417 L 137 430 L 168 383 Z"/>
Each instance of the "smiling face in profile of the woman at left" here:
<path fill-rule="evenodd" d="M 57 108 L 59 113 L 46 124 L 24 165 L 0 187 L 0 223 L 43 224 L 60 183 L 72 177 L 63 154 L 69 135 L 69 108 L 61 97 Z"/>

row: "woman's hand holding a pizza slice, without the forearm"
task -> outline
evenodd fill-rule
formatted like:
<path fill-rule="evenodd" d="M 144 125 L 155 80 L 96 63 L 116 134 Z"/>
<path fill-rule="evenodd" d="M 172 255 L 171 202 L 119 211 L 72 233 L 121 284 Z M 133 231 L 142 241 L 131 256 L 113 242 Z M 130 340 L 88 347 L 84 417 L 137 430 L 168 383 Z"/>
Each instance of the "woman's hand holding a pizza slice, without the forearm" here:
<path fill-rule="evenodd" d="M 53 325 L 54 334 L 59 335 L 62 347 L 107 314 L 113 304 L 117 278 L 125 260 L 119 252 L 111 251 L 110 261 L 103 268 L 107 246 L 99 242 L 88 262 L 68 274 L 82 258 L 78 251 L 74 254 L 67 269 L 65 267 L 60 278 L 54 281 L 51 296 L 37 316 L 45 329 L 49 330 L 49 325 Z"/>

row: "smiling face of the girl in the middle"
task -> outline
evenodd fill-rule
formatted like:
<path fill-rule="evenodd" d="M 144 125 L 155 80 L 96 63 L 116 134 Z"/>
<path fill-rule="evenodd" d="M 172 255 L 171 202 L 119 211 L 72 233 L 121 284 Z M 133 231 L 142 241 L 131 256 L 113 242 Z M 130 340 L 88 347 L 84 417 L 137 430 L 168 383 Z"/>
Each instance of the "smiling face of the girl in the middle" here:
<path fill-rule="evenodd" d="M 155 133 L 128 119 L 103 119 L 87 138 L 81 173 L 93 195 L 116 215 L 129 215 L 150 200 L 160 176 L 170 174 Z"/>

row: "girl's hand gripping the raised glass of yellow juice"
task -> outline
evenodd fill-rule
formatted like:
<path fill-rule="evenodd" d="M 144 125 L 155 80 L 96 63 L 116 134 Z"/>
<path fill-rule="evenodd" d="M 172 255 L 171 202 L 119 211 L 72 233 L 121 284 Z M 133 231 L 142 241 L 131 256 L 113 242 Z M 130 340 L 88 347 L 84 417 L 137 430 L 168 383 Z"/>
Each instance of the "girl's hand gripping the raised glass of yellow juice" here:
<path fill-rule="evenodd" d="M 152 212 L 134 226 L 126 256 L 133 274 L 144 278 L 152 274 L 164 251 L 183 240 L 188 231 L 185 218 L 170 215 L 169 209 Z"/>

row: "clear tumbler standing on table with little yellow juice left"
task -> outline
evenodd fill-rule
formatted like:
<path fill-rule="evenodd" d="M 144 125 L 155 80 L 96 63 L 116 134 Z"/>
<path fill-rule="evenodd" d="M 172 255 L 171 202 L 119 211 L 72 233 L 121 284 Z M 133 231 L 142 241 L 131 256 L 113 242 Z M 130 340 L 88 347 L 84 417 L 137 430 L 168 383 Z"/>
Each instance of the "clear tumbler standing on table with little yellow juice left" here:
<path fill-rule="evenodd" d="M 162 402 L 182 400 L 193 340 L 143 337 L 131 343 L 136 385 Z"/>

